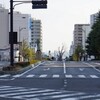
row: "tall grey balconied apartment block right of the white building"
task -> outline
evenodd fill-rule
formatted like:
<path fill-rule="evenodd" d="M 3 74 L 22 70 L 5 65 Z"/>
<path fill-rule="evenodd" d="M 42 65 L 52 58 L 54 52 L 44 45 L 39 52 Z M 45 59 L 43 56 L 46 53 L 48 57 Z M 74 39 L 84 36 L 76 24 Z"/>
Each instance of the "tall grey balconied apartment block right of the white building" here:
<path fill-rule="evenodd" d="M 42 29 L 41 20 L 31 19 L 31 47 L 37 50 L 37 41 L 40 42 L 40 50 L 42 51 Z"/>

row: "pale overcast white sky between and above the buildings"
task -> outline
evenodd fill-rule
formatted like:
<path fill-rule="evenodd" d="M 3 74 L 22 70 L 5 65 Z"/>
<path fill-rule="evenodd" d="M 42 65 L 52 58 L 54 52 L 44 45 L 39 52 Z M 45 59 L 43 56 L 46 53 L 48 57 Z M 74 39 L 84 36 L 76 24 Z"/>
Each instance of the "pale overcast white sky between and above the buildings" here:
<path fill-rule="evenodd" d="M 9 8 L 9 0 L 0 3 Z M 74 24 L 89 24 L 90 15 L 99 9 L 100 0 L 48 0 L 48 8 L 44 10 L 32 9 L 31 3 L 18 5 L 14 10 L 42 21 L 43 51 L 54 51 L 62 44 L 69 50 Z"/>

